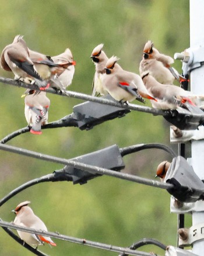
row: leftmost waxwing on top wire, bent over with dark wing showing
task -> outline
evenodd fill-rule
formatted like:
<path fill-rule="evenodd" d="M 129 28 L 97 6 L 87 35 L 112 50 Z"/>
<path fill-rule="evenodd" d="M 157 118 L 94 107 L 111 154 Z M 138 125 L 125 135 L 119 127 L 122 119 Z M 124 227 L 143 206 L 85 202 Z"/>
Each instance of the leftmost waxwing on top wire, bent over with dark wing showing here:
<path fill-rule="evenodd" d="M 43 81 L 40 74 L 38 74 L 34 63 L 29 56 L 29 49 L 23 36 L 17 35 L 13 43 L 6 46 L 0 58 L 1 67 L 6 71 L 12 71 L 15 74 L 15 79 L 33 79 L 38 87 L 44 88 L 47 82 Z"/>

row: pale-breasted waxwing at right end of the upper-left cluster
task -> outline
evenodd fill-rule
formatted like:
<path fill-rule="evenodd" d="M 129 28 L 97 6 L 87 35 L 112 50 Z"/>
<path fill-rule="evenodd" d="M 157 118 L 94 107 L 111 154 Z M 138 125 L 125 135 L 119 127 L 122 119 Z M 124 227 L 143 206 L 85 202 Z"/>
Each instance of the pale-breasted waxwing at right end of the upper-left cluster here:
<path fill-rule="evenodd" d="M 52 57 L 55 64 L 62 65 L 63 70 L 59 71 L 52 79 L 51 87 L 64 91 L 69 85 L 72 84 L 73 75 L 75 74 L 76 61 L 73 60 L 72 52 L 66 49 L 64 53 Z"/>

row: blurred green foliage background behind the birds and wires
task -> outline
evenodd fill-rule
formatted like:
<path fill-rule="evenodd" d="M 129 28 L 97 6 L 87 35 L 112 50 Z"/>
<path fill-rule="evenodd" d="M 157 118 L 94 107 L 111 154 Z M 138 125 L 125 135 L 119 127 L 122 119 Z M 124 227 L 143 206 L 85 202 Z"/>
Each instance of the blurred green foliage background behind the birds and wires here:
<path fill-rule="evenodd" d="M 120 58 L 125 69 L 139 72 L 143 46 L 154 46 L 173 57 L 189 47 L 189 3 L 187 0 L 0 0 L 0 49 L 23 34 L 30 49 L 54 56 L 69 47 L 76 60 L 71 91 L 91 94 L 94 64 L 90 54 L 104 43 L 108 57 Z M 174 67 L 181 70 L 180 61 Z M 0 70 L 1 77 L 13 78 Z M 1 138 L 27 125 L 24 118 L 23 88 L 0 83 Z M 72 113 L 78 99 L 47 95 L 51 100 L 49 122 Z M 133 102 L 138 104 L 138 102 Z M 150 106 L 150 103 L 146 103 Z M 72 158 L 117 144 L 170 145 L 169 123 L 163 117 L 132 111 L 89 131 L 68 127 L 43 130 L 41 136 L 22 134 L 8 144 L 57 157 Z M 63 166 L 1 151 L 2 198 L 31 179 L 52 173 Z M 170 160 L 161 150 L 145 150 L 124 157 L 124 172 L 154 179 L 157 165 Z M 0 209 L 3 220 L 11 222 L 11 212 L 20 202 L 31 201 L 34 213 L 49 231 L 126 247 L 144 237 L 166 245 L 176 245 L 177 216 L 170 214 L 170 195 L 152 188 L 112 177 L 99 177 L 85 185 L 47 182 L 35 185 L 10 199 Z M 190 218 L 189 218 L 190 222 Z M 0 255 L 32 255 L 0 230 Z M 55 240 L 57 247 L 39 249 L 48 255 L 117 255 L 78 244 Z M 154 246 L 141 250 L 164 255 Z"/>

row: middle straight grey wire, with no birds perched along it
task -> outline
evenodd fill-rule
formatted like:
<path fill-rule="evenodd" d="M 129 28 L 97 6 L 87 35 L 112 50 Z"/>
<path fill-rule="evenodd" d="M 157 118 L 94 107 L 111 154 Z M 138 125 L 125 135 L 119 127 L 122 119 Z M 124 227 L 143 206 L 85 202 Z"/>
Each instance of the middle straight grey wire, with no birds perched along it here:
<path fill-rule="evenodd" d="M 5 150 L 5 151 L 10 151 L 12 153 L 20 154 L 20 155 L 26 155 L 27 157 L 33 157 L 37 158 L 40 160 L 46 160 L 50 162 L 57 162 L 58 164 L 64 164 L 64 165 L 69 165 L 75 168 L 82 169 L 83 171 L 91 172 L 91 173 L 96 173 L 96 174 L 101 174 L 101 175 L 108 175 L 111 177 L 115 178 L 120 178 L 120 179 L 125 179 L 127 181 L 132 181 L 148 186 L 154 186 L 157 188 L 163 188 L 163 189 L 170 189 L 173 188 L 174 185 L 172 184 L 167 184 L 159 181 L 155 181 L 153 179 L 146 179 L 146 178 L 141 178 L 136 175 L 131 175 L 131 174 L 125 174 L 121 172 L 116 172 L 112 171 L 110 169 L 105 169 L 101 167 L 95 167 L 93 165 L 89 164 L 83 164 L 81 162 L 76 162 L 73 160 L 66 160 L 65 158 L 59 158 L 59 157 L 54 157 L 46 154 L 41 154 L 37 153 L 34 151 L 26 150 L 23 148 L 18 148 L 18 147 L 13 147 L 13 146 L 8 146 L 5 144 L 0 144 L 0 150 Z"/>

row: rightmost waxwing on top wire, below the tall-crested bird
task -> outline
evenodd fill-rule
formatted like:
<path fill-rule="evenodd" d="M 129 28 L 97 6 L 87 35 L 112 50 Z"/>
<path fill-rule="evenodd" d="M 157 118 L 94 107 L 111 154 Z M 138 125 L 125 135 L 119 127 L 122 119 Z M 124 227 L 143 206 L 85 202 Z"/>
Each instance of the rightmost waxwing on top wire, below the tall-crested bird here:
<path fill-rule="evenodd" d="M 149 94 L 157 101 L 151 101 L 153 108 L 176 109 L 178 106 L 185 108 L 185 102 L 191 105 L 194 95 L 176 85 L 161 84 L 149 72 L 142 74 L 142 79 Z M 192 98 L 191 98 L 192 97 Z"/>

